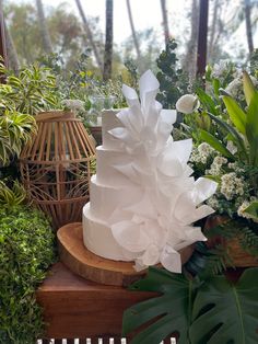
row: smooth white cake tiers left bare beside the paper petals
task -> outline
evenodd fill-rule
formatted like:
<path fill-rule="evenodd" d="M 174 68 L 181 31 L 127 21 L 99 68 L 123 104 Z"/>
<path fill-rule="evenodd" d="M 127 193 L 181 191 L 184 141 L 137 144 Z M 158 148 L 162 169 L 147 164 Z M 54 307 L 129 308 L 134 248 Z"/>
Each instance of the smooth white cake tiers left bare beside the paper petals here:
<path fill-rule="evenodd" d="M 103 146 L 96 148 L 97 173 L 90 184 L 91 202 L 83 208 L 83 240 L 85 246 L 97 255 L 115 261 L 132 261 L 133 256 L 116 242 L 110 229 L 110 217 L 118 205 L 129 206 L 141 197 L 141 190 L 128 184 L 127 177 L 114 168 L 129 158 L 119 140 L 108 133 L 122 126 L 116 117 L 118 112 L 103 112 Z"/>

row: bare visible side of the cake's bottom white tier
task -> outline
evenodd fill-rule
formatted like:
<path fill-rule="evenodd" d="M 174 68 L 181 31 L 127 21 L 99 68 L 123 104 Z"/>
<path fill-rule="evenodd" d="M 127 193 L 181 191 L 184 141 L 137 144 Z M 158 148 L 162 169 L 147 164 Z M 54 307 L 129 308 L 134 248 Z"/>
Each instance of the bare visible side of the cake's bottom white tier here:
<path fill-rule="evenodd" d="M 114 261 L 130 262 L 134 256 L 124 250 L 115 240 L 110 227 L 91 215 L 90 202 L 83 207 L 84 245 L 99 256 Z"/>

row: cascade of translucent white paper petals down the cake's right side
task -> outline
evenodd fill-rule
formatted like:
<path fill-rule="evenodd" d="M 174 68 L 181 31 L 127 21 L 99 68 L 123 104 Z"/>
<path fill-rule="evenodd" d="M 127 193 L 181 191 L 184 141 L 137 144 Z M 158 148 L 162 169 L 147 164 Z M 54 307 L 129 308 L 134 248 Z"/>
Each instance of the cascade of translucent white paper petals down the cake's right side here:
<path fill-rule="evenodd" d="M 213 213 L 201 204 L 215 192 L 216 183 L 190 176 L 192 142 L 173 140 L 176 112 L 162 110 L 155 101 L 157 89 L 150 70 L 140 79 L 140 100 L 133 89 L 122 88 L 129 108 L 117 114 L 124 127 L 109 133 L 122 144 L 128 163 L 115 169 L 142 190 L 142 197 L 126 208 L 118 204 L 109 225 L 125 254 L 132 253 L 137 270 L 162 263 L 179 273 L 178 250 L 206 240 L 192 223 Z"/>

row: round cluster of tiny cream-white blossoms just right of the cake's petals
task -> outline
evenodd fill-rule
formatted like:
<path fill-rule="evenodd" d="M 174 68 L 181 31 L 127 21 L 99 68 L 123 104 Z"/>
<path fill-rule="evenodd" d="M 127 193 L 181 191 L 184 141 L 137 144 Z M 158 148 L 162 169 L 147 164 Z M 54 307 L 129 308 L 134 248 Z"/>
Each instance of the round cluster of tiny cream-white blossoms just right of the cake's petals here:
<path fill-rule="evenodd" d="M 227 200 L 234 198 L 235 195 L 244 195 L 244 181 L 236 176 L 235 172 L 230 172 L 221 177 L 221 193 Z"/>

